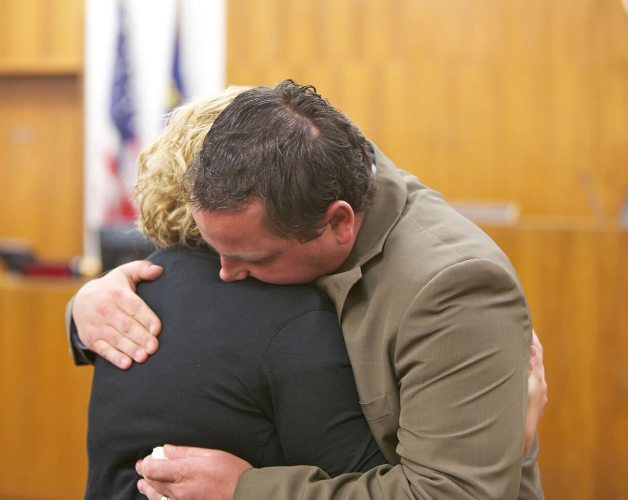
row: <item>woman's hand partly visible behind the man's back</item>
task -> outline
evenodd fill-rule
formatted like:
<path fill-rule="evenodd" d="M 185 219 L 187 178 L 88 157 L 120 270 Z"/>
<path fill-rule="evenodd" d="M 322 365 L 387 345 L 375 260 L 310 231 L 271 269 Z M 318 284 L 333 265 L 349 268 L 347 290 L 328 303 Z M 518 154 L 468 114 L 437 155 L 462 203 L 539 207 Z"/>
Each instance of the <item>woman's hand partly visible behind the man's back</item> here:
<path fill-rule="evenodd" d="M 532 444 L 536 427 L 539 425 L 541 416 L 543 416 L 543 409 L 547 402 L 548 384 L 545 381 L 545 368 L 543 366 L 543 346 L 533 330 L 528 365 L 528 416 L 526 418 L 524 455 Z"/>

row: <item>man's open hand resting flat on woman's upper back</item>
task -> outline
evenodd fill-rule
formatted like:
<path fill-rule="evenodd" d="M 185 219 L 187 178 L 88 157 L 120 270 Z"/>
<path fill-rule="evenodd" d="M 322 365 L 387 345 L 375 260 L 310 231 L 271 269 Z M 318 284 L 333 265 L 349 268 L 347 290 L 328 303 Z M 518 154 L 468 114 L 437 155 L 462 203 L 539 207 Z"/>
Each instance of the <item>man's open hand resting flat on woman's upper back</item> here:
<path fill-rule="evenodd" d="M 85 347 L 124 370 L 155 353 L 161 321 L 135 289 L 138 282 L 152 281 L 162 272 L 148 260 L 136 260 L 81 287 L 72 304 L 72 318 Z"/>

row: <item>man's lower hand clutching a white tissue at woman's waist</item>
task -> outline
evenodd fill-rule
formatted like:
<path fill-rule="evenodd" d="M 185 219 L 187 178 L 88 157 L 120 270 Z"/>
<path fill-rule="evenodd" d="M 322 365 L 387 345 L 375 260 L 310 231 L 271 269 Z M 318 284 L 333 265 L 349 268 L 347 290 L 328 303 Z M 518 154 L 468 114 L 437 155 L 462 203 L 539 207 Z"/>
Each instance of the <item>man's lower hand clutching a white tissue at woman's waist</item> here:
<path fill-rule="evenodd" d="M 150 455 L 136 470 L 138 490 L 149 500 L 232 500 L 237 481 L 252 465 L 221 450 L 165 445 L 168 460 Z"/>

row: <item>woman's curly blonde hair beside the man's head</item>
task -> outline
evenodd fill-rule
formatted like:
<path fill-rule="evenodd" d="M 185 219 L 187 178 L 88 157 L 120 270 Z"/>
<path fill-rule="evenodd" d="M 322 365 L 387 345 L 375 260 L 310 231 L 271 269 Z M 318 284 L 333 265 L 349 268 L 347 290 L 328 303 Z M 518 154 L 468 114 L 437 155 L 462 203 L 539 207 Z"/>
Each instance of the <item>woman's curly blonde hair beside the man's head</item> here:
<path fill-rule="evenodd" d="M 203 244 L 183 190 L 183 175 L 220 111 L 249 88 L 230 86 L 213 97 L 182 104 L 153 143 L 139 153 L 138 182 L 133 188 L 139 205 L 137 225 L 158 247 Z"/>

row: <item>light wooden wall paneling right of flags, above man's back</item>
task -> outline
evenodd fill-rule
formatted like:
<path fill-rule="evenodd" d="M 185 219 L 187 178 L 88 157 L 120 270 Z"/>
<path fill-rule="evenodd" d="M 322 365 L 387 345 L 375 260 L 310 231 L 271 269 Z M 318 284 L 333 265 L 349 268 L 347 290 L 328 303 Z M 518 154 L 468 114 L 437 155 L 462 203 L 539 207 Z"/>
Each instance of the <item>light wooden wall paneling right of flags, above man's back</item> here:
<path fill-rule="evenodd" d="M 618 0 L 229 0 L 227 79 L 315 84 L 445 196 L 615 217 L 628 196 Z"/>

